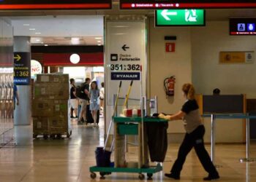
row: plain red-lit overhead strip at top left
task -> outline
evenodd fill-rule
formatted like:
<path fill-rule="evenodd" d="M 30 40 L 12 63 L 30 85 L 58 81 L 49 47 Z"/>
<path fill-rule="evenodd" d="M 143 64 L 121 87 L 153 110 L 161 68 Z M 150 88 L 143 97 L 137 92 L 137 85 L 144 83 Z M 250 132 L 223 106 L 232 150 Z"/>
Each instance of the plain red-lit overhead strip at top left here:
<path fill-rule="evenodd" d="M 0 0 L 7 9 L 111 9 L 111 0 Z"/>

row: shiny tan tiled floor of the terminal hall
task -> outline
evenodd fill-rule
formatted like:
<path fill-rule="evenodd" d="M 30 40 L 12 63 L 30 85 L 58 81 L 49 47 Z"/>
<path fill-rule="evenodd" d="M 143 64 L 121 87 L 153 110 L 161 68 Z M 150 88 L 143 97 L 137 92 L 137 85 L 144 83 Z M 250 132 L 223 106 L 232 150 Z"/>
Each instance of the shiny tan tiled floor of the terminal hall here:
<path fill-rule="evenodd" d="M 0 181 L 139 181 L 138 174 L 113 173 L 105 180 L 91 180 L 89 167 L 95 165 L 94 150 L 103 144 L 103 126 L 99 128 L 72 124 L 72 137 L 67 140 L 32 140 L 31 127 L 16 127 L 18 146 L 0 149 Z M 206 146 L 209 151 L 209 146 Z M 252 145 L 256 157 L 256 145 Z M 129 157 L 135 155 L 130 150 Z M 176 159 L 178 144 L 170 144 L 163 163 L 164 170 L 153 176 L 153 181 L 172 181 L 163 176 Z M 219 181 L 256 181 L 256 162 L 240 163 L 245 157 L 244 145 L 217 145 Z M 187 157 L 180 181 L 203 181 L 207 174 L 192 151 Z M 145 180 L 146 181 L 146 180 Z"/>

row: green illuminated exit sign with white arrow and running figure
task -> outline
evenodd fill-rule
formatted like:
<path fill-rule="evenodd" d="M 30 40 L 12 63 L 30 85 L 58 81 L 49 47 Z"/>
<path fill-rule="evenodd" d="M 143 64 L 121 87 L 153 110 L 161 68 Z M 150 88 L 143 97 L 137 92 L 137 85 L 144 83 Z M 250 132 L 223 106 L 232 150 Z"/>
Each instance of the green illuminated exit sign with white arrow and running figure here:
<path fill-rule="evenodd" d="M 155 12 L 156 26 L 204 26 L 203 9 L 161 9 Z"/>

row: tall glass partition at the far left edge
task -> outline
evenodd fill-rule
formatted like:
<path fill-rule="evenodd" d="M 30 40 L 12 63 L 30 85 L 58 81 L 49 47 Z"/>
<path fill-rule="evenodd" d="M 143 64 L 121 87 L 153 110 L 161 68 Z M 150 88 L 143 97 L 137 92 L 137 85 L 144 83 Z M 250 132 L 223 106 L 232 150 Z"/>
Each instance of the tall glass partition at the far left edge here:
<path fill-rule="evenodd" d="M 12 25 L 0 18 L 0 148 L 14 139 Z"/>

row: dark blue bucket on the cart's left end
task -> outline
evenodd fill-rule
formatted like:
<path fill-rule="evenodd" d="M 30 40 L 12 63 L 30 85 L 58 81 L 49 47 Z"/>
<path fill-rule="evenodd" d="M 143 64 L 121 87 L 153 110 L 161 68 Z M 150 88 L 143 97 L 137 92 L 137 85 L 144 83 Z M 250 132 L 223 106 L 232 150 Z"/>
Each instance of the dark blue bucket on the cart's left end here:
<path fill-rule="evenodd" d="M 97 167 L 110 167 L 111 151 L 105 151 L 103 147 L 97 147 L 95 157 Z"/>

